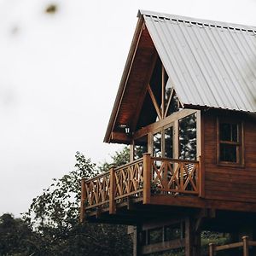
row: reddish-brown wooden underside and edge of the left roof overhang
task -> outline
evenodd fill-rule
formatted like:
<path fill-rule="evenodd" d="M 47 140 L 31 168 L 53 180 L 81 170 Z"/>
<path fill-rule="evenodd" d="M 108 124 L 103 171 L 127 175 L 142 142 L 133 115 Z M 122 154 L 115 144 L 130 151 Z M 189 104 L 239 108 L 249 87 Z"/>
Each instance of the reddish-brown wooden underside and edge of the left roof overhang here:
<path fill-rule="evenodd" d="M 131 139 L 124 126 L 134 126 L 134 115 L 139 108 L 139 97 L 143 96 L 148 82 L 148 67 L 156 56 L 156 49 L 145 26 L 143 15 L 138 15 L 137 27 L 113 104 L 113 110 L 104 137 L 105 143 L 126 143 Z"/>

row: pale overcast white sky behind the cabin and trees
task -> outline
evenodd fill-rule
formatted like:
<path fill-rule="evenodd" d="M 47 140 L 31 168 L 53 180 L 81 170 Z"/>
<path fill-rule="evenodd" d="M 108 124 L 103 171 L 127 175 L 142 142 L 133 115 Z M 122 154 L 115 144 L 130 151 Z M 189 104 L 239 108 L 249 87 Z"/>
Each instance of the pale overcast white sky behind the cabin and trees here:
<path fill-rule="evenodd" d="M 138 9 L 256 26 L 256 0 L 0 0 L 0 215 L 26 212 L 76 151 L 120 148 L 102 140 Z"/>

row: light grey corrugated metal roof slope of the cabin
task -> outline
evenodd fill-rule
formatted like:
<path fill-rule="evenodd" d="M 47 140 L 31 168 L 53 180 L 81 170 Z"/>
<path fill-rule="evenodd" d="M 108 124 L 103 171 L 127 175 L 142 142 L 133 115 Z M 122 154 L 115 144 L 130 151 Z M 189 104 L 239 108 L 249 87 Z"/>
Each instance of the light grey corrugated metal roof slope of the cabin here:
<path fill-rule="evenodd" d="M 183 104 L 256 112 L 256 27 L 139 14 Z"/>

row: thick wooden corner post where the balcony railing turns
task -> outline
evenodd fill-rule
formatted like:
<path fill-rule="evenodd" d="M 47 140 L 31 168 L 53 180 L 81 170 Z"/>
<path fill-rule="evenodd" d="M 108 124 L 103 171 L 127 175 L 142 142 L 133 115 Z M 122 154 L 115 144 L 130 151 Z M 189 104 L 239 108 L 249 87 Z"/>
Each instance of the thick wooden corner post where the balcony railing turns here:
<path fill-rule="evenodd" d="M 150 203 L 151 195 L 151 159 L 150 154 L 143 154 L 143 204 Z"/>

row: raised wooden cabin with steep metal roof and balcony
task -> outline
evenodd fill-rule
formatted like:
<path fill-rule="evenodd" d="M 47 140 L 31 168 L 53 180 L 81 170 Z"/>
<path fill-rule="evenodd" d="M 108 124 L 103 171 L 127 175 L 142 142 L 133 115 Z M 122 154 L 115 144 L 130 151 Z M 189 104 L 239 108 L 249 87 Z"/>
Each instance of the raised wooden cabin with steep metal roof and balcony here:
<path fill-rule="evenodd" d="M 134 255 L 253 239 L 255 112 L 256 27 L 140 10 L 104 138 L 131 161 L 82 181 L 81 219 L 133 226 Z"/>

